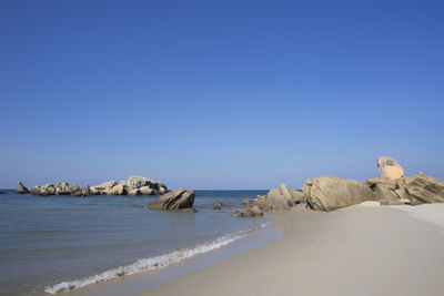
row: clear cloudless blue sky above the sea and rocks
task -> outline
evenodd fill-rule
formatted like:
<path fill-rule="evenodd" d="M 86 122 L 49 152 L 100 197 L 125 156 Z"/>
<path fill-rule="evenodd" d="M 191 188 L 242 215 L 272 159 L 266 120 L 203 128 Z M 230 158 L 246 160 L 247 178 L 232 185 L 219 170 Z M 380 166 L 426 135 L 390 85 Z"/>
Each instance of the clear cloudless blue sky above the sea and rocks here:
<path fill-rule="evenodd" d="M 444 178 L 444 1 L 0 1 L 0 187 Z"/>

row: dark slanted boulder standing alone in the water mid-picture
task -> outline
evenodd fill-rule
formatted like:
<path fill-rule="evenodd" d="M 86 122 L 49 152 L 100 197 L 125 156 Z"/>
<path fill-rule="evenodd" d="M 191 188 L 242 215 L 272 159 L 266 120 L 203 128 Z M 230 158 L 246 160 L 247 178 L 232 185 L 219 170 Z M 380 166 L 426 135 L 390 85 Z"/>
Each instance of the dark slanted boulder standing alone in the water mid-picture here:
<path fill-rule="evenodd" d="M 178 188 L 165 193 L 153 202 L 145 205 L 145 208 L 152 210 L 184 210 L 191 208 L 194 203 L 194 191 Z"/>

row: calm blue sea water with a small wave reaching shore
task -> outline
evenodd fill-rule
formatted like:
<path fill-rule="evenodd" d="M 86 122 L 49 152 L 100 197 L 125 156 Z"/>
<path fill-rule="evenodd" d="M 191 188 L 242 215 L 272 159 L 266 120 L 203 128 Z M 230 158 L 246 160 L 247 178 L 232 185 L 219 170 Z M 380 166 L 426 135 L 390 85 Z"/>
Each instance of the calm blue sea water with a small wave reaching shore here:
<path fill-rule="evenodd" d="M 50 295 L 168 268 L 266 225 L 232 217 L 265 191 L 195 191 L 198 213 L 143 208 L 157 196 L 0 195 L 0 294 Z M 213 211 L 215 202 L 226 211 Z"/>

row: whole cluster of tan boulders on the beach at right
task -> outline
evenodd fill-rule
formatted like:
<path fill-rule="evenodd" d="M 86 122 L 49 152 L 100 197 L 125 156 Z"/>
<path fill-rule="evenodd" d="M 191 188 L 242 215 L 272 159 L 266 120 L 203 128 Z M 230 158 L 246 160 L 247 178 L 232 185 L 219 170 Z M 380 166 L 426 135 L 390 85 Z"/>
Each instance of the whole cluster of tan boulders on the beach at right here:
<path fill-rule="evenodd" d="M 314 211 L 334 211 L 341 207 L 374 201 L 381 205 L 418 205 L 444 202 L 444 181 L 423 173 L 404 176 L 403 167 L 393 159 L 376 159 L 381 177 L 360 182 L 334 176 L 306 180 L 301 191 L 289 190 L 285 184 L 272 188 L 246 202 L 246 208 L 236 216 L 259 216 L 275 211 L 304 206 Z"/>

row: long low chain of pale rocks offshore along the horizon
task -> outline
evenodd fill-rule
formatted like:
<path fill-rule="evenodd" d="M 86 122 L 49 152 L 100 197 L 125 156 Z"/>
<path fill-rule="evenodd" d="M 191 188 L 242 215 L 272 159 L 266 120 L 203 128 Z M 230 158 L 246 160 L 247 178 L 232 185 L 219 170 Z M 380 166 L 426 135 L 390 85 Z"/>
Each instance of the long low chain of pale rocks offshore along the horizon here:
<path fill-rule="evenodd" d="M 95 186 L 84 188 L 79 185 L 69 185 L 67 182 L 48 183 L 43 186 L 33 186 L 28 190 L 21 182 L 18 183 L 16 193 L 30 193 L 32 195 L 161 195 L 168 192 L 167 185 L 142 176 L 130 176 L 123 181 L 108 181 Z"/>

